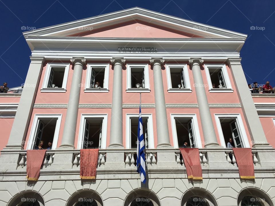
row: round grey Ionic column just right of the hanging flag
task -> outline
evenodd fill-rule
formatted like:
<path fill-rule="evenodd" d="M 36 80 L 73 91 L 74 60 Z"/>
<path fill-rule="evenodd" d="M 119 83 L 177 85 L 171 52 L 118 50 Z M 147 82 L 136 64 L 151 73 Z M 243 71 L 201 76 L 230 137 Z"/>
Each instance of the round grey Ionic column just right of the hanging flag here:
<path fill-rule="evenodd" d="M 154 75 L 154 94 L 155 94 L 155 106 L 156 106 L 156 124 L 157 124 L 157 136 L 158 145 L 160 146 L 171 146 L 168 132 L 166 104 L 164 98 L 163 81 L 161 67 L 164 59 L 152 58 L 150 59 L 151 65 L 153 66 Z"/>

